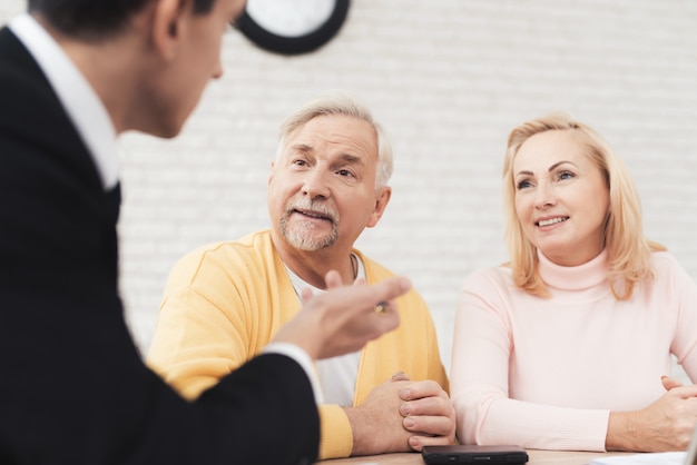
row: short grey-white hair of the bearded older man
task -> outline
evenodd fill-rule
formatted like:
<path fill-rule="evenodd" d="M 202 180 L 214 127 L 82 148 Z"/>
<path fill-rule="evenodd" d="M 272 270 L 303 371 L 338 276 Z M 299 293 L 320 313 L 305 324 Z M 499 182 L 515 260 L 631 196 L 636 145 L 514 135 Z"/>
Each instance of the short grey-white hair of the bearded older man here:
<path fill-rule="evenodd" d="M 276 158 L 281 157 L 285 139 L 297 128 L 305 125 L 313 118 L 325 115 L 342 115 L 361 119 L 370 123 L 375 130 L 377 141 L 377 165 L 375 176 L 375 188 L 380 189 L 387 185 L 394 166 L 392 155 L 392 144 L 383 127 L 373 119 L 369 108 L 357 99 L 340 90 L 330 90 L 321 93 L 314 100 L 308 101 L 303 107 L 291 113 L 281 125 L 278 131 L 278 148 Z"/>

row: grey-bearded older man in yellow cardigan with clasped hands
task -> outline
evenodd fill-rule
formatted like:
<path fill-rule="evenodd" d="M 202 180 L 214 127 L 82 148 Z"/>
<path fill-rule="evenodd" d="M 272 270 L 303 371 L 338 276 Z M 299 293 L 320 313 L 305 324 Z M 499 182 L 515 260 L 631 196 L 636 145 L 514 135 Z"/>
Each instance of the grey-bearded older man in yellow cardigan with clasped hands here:
<path fill-rule="evenodd" d="M 393 276 L 353 248 L 382 217 L 391 174 L 384 131 L 352 97 L 328 92 L 291 115 L 268 179 L 271 230 L 205 246 L 175 266 L 149 365 L 196 398 L 262 350 L 300 309 L 304 291 L 326 289 L 327 270 L 336 269 L 344 283 Z M 323 458 L 421 451 L 454 439 L 429 309 L 412 290 L 395 310 L 397 330 L 316 365 L 325 400 Z"/>

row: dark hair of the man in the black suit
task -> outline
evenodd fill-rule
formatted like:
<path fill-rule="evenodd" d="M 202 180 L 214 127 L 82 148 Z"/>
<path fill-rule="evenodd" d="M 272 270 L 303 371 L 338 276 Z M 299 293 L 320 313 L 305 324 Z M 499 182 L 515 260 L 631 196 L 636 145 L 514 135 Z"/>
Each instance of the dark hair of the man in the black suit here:
<path fill-rule="evenodd" d="M 151 0 L 29 0 L 29 12 L 38 12 L 59 32 L 81 39 L 106 38 Z M 215 0 L 194 0 L 194 13 L 210 11 Z"/>

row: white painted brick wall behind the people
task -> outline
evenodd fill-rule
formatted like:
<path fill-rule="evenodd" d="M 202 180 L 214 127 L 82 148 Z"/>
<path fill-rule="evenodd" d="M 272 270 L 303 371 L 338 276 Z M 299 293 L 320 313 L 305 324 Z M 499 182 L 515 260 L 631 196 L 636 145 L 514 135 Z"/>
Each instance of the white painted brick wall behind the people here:
<path fill-rule="evenodd" d="M 23 9 L 0 0 L 0 20 Z M 697 278 L 697 2 L 354 0 L 320 51 L 281 57 L 237 32 L 225 76 L 173 141 L 122 140 L 122 294 L 149 344 L 186 251 L 267 226 L 282 118 L 327 88 L 364 99 L 392 133 L 393 199 L 360 247 L 410 276 L 450 363 L 464 276 L 505 258 L 500 169 L 517 123 L 566 110 L 602 132 L 639 187 L 646 228 Z"/>

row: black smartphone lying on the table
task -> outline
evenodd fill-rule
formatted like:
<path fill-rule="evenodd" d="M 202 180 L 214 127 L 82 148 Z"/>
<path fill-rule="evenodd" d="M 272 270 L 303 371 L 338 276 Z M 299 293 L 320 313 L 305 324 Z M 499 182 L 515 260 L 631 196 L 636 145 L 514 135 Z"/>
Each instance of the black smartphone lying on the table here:
<path fill-rule="evenodd" d="M 424 446 L 421 455 L 428 465 L 446 464 L 524 464 L 528 453 L 513 445 L 503 446 Z"/>

